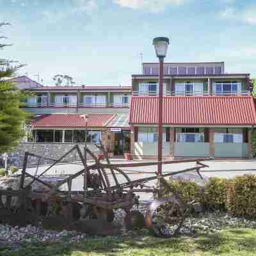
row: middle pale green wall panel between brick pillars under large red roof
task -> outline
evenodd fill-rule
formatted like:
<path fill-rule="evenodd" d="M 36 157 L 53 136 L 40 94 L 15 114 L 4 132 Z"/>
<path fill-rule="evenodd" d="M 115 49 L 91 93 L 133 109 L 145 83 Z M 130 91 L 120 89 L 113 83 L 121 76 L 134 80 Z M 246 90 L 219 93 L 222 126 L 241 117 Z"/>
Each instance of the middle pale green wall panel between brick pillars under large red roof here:
<path fill-rule="evenodd" d="M 174 143 L 174 156 L 183 157 L 209 157 L 210 144 L 209 143 Z"/>

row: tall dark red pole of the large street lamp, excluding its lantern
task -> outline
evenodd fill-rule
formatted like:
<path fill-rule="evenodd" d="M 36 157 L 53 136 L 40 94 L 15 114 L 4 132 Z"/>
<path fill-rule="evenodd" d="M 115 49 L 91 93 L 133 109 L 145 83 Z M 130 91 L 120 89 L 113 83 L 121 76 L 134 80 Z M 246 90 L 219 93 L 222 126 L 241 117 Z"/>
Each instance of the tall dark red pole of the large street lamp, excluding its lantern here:
<path fill-rule="evenodd" d="M 157 173 L 162 175 L 162 148 L 163 148 L 163 79 L 164 58 L 159 57 L 159 94 L 158 94 L 158 161 Z"/>

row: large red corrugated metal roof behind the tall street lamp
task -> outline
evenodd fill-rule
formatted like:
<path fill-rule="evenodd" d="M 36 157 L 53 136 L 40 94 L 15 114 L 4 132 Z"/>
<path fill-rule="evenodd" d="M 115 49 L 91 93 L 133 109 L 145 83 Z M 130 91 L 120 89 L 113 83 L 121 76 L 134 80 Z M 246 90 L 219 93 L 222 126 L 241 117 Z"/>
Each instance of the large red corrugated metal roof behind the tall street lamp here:
<path fill-rule="evenodd" d="M 130 124 L 156 124 L 158 97 L 132 97 Z M 252 96 L 164 97 L 163 123 L 173 125 L 253 125 Z"/>

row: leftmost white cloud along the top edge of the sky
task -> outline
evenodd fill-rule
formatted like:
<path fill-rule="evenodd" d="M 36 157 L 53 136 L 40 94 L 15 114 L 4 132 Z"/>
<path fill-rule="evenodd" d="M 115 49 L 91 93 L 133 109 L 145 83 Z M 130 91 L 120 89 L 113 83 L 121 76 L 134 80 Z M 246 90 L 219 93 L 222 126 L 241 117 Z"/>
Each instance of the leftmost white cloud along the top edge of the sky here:
<path fill-rule="evenodd" d="M 72 15 L 90 15 L 97 8 L 96 0 L 66 0 L 61 3 L 61 8 L 57 6 L 56 8 L 49 8 L 49 10 L 43 10 L 42 15 L 45 22 L 55 23 Z"/>

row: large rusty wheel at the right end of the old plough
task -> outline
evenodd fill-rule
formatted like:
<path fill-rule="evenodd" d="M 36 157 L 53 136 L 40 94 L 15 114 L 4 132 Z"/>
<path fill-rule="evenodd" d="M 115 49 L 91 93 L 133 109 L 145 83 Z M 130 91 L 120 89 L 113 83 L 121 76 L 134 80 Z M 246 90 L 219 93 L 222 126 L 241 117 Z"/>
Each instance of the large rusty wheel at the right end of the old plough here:
<path fill-rule="evenodd" d="M 161 216 L 159 207 L 167 205 L 166 216 Z M 159 214 L 160 213 L 160 214 Z M 184 208 L 182 204 L 173 196 L 170 198 L 155 199 L 150 204 L 145 216 L 145 225 L 148 230 L 152 230 L 156 236 L 171 237 L 179 233 L 184 222 Z"/>

